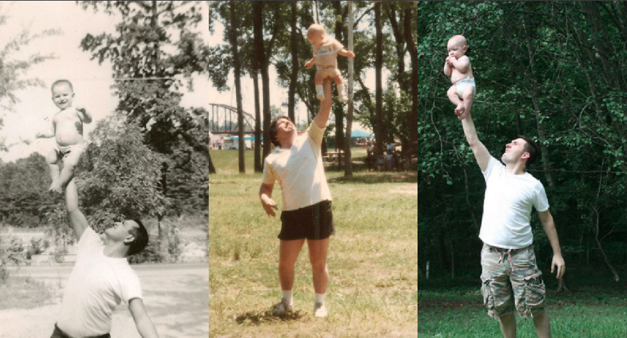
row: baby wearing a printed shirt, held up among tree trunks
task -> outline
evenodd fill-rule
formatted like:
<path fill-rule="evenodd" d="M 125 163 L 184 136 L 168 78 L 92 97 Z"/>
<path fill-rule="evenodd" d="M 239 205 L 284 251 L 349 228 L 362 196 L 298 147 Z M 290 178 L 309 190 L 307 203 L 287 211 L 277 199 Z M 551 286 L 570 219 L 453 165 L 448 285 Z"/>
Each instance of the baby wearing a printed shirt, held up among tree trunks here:
<path fill-rule="evenodd" d="M 337 58 L 338 54 L 348 58 L 354 58 L 355 54 L 344 49 L 344 46 L 338 40 L 326 35 L 324 27 L 319 24 L 309 26 L 309 29 L 307 29 L 307 40 L 313 45 L 314 57 L 305 63 L 305 67 L 310 68 L 314 63 L 316 65 L 315 83 L 317 98 L 320 100 L 324 99 L 322 83 L 324 79 L 330 77 L 335 81 L 335 87 L 338 89 L 338 98 L 342 101 L 347 101 L 348 97 L 344 92 L 342 73 L 338 70 Z"/>

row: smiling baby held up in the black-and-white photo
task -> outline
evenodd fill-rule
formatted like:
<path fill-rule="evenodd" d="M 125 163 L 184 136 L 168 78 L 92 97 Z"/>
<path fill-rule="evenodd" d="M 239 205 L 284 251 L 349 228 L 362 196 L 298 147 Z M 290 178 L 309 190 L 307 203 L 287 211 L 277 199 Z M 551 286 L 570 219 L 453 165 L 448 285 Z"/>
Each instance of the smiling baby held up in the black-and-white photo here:
<path fill-rule="evenodd" d="M 74 177 L 74 168 L 86 148 L 83 123 L 90 123 L 92 120 L 85 108 L 72 106 L 73 101 L 74 88 L 70 81 L 58 80 L 52 83 L 52 102 L 61 111 L 54 114 L 51 129 L 35 135 L 35 138 L 56 138 L 56 147 L 46 156 L 46 161 L 52 177 L 49 190 L 57 193 L 63 193 L 63 188 Z M 63 170 L 58 166 L 61 159 Z"/>

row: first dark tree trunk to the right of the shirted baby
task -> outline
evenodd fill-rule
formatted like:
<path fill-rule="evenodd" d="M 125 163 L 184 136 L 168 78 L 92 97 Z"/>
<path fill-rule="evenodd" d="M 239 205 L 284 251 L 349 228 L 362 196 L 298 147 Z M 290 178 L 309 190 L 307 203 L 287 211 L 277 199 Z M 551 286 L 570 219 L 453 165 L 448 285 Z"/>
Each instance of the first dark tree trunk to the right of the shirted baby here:
<path fill-rule="evenodd" d="M 374 24 L 376 27 L 376 50 L 374 58 L 374 74 L 376 91 L 374 101 L 376 105 L 376 126 L 374 128 L 374 138 L 376 138 L 377 153 L 383 152 L 383 88 L 381 83 L 381 68 L 383 67 L 383 31 L 381 28 L 381 2 L 374 4 Z M 418 122 L 416 122 L 418 128 Z M 412 126 L 413 128 L 413 126 Z M 416 130 L 418 133 L 418 129 Z"/>

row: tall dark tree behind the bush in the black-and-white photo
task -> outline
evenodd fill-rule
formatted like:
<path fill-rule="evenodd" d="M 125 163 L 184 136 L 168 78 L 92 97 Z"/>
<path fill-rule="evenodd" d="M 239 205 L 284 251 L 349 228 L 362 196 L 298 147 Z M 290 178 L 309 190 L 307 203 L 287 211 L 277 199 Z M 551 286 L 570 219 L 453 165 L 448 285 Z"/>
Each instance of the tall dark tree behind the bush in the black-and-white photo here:
<path fill-rule="evenodd" d="M 113 64 L 113 77 L 117 79 L 117 111 L 127 116 L 129 123 L 137 124 L 143 131 L 144 142 L 151 150 L 183 159 L 175 152 L 193 149 L 211 164 L 208 143 L 203 144 L 193 132 L 190 122 L 192 110 L 180 106 L 182 87 L 180 77 L 193 84 L 193 74 L 207 72 L 212 53 L 200 33 L 193 31 L 202 19 L 200 1 L 81 1 L 84 9 L 117 11 L 121 22 L 116 25 L 117 35 L 91 34 L 81 41 L 84 51 L 100 63 L 108 58 Z M 211 27 L 209 27 L 211 29 Z M 201 138 L 205 140 L 206 138 Z M 184 147 L 182 147 L 183 143 Z M 183 163 L 161 162 L 161 191 L 168 195 L 168 172 L 172 166 Z M 171 183 L 171 182 L 170 182 Z M 199 182 L 200 183 L 200 182 Z M 159 236 L 165 210 L 157 214 Z"/>

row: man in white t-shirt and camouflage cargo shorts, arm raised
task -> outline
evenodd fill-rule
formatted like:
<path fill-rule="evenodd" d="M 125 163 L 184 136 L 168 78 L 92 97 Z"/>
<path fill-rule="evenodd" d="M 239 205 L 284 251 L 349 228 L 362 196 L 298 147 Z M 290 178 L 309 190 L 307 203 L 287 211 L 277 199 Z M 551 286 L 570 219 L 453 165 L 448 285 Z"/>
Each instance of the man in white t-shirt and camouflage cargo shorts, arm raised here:
<path fill-rule="evenodd" d="M 557 268 L 556 277 L 562 278 L 565 265 L 544 187 L 525 172 L 537 157 L 537 146 L 525 136 L 512 140 L 501 157 L 503 166 L 479 141 L 470 115 L 459 118 L 486 179 L 479 238 L 484 242 L 481 278 L 488 314 L 499 319 L 505 338 L 516 338 L 514 309 L 519 316 L 533 318 L 539 338 L 550 337 L 550 322 L 544 312 L 545 287 L 532 246 L 532 207 L 538 211 L 553 248 L 551 273 Z"/>

